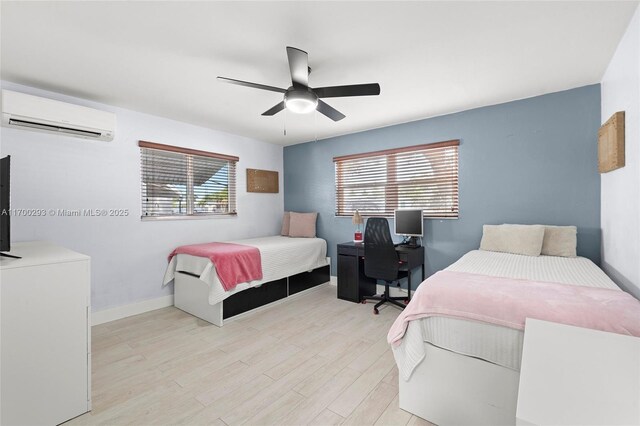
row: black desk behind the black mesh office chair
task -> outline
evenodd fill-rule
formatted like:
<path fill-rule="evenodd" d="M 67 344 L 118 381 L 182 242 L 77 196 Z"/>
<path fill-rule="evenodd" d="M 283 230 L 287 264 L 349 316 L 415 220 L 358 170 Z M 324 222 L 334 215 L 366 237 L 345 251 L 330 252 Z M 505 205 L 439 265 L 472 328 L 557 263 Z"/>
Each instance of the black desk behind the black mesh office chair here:
<path fill-rule="evenodd" d="M 396 251 L 408 271 L 407 299 L 411 299 L 411 271 L 419 266 L 424 281 L 424 247 L 397 246 Z M 338 298 L 360 303 L 363 296 L 376 294 L 376 283 L 364 274 L 364 244 L 338 244 Z"/>

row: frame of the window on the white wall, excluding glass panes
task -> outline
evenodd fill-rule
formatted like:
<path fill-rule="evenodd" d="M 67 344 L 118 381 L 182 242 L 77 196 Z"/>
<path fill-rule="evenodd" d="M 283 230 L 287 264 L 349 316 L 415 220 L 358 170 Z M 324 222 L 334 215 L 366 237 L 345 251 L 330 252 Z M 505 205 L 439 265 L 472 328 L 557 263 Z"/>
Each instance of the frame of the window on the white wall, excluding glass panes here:
<path fill-rule="evenodd" d="M 240 158 L 233 155 L 227 154 L 219 154 L 216 152 L 210 151 L 202 151 L 191 148 L 183 148 L 174 145 L 165 145 L 159 144 L 155 142 L 149 141 L 138 141 L 138 148 L 140 149 L 140 219 L 143 221 L 155 221 L 155 220 L 198 220 L 198 219 L 222 219 L 222 218 L 230 218 L 236 217 L 238 215 L 237 212 L 237 176 L 238 176 L 238 165 L 237 163 L 240 161 Z M 145 184 L 145 165 L 144 165 L 144 151 L 145 149 L 162 151 L 162 152 L 170 152 L 176 154 L 182 154 L 186 156 L 187 161 L 187 175 L 185 176 L 186 180 L 186 209 L 187 214 L 171 214 L 171 215 L 153 215 L 147 216 L 145 215 L 145 202 L 143 200 L 143 190 L 142 185 Z M 193 171 L 193 163 L 194 157 L 199 158 L 213 158 L 216 160 L 226 161 L 229 165 L 229 172 L 227 177 L 227 185 L 228 185 L 228 205 L 229 211 L 227 213 L 196 213 L 194 212 L 195 204 L 196 204 L 196 195 L 194 191 L 194 171 Z M 197 161 L 197 160 L 196 160 Z"/>

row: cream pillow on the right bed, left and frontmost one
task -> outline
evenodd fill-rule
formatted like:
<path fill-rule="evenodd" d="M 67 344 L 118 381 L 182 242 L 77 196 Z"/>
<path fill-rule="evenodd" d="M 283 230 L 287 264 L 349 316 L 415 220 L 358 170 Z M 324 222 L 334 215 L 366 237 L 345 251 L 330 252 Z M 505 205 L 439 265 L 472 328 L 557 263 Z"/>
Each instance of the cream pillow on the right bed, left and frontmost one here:
<path fill-rule="evenodd" d="M 480 250 L 540 256 L 544 226 L 484 225 Z"/>

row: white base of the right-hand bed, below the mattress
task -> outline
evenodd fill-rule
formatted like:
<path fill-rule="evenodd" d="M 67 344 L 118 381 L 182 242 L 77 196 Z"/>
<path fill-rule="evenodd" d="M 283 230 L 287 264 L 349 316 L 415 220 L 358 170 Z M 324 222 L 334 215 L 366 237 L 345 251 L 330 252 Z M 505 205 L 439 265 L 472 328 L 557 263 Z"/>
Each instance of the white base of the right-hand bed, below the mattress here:
<path fill-rule="evenodd" d="M 400 408 L 439 426 L 515 425 L 520 373 L 425 343 Z"/>

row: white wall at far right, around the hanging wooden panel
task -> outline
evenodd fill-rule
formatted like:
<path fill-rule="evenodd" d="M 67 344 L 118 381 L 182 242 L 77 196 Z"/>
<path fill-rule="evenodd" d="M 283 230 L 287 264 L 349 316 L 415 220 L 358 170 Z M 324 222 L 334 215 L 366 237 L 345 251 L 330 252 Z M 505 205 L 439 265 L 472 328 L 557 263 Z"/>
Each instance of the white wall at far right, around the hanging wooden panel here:
<path fill-rule="evenodd" d="M 625 111 L 626 165 L 601 175 L 602 266 L 640 297 L 640 9 L 602 78 L 602 122 Z"/>

